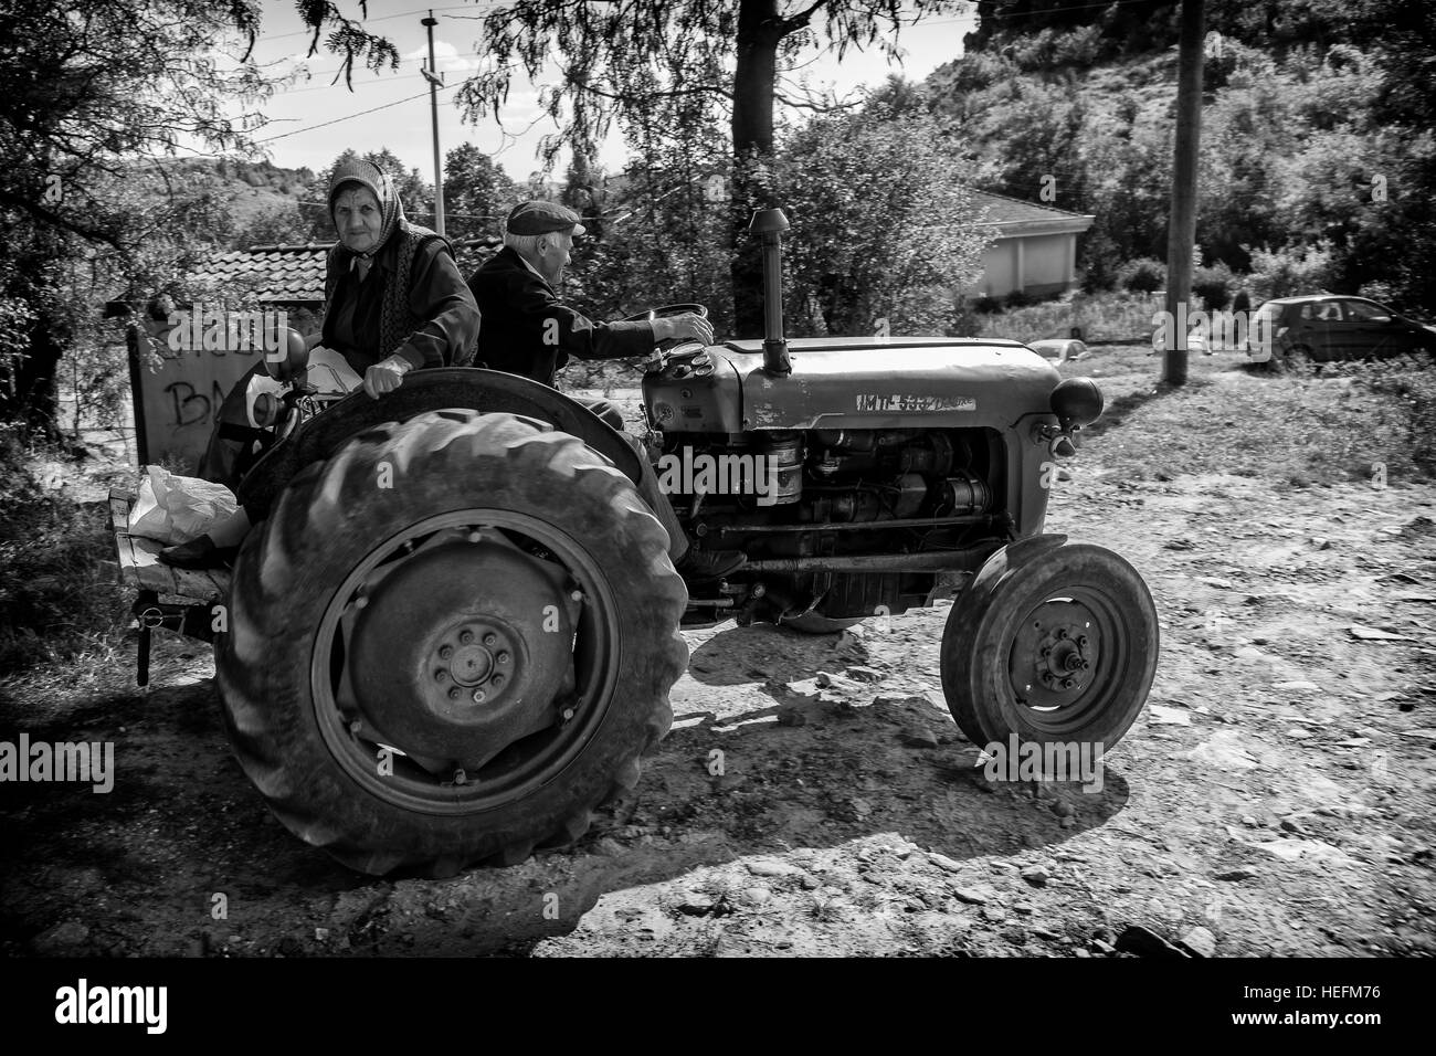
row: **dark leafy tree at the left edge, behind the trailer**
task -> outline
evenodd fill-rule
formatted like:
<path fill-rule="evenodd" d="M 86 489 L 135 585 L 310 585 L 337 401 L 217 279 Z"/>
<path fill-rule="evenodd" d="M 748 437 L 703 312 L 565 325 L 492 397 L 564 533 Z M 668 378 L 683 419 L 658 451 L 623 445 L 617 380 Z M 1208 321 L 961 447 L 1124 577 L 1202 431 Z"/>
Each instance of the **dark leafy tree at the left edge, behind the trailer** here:
<path fill-rule="evenodd" d="M 327 16 L 346 68 L 398 65 L 333 4 L 306 10 Z M 181 142 L 253 152 L 261 119 L 228 108 L 271 89 L 248 60 L 258 20 L 250 0 L 0 0 L 0 303 L 23 305 L 10 318 L 26 328 L 0 361 L 0 421 L 56 435 L 56 365 L 93 307 L 70 287 L 75 269 L 86 295 L 152 270 L 142 247 L 172 230 L 175 208 L 131 194 L 139 174 L 182 197 L 165 162 Z"/>

